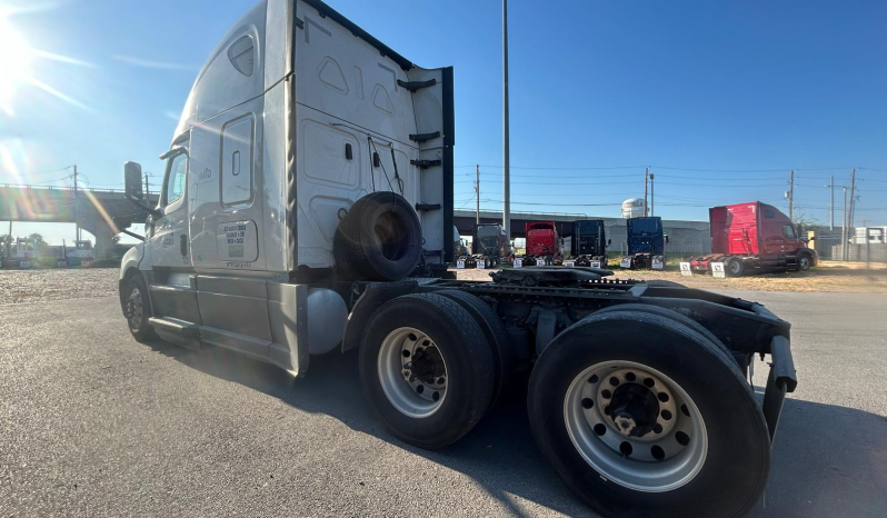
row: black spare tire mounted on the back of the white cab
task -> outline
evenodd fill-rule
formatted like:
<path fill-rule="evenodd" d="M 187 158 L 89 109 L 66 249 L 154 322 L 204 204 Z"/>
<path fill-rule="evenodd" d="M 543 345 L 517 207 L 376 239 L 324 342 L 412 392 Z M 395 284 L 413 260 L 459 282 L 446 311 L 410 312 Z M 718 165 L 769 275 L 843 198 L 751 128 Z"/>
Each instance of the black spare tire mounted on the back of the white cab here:
<path fill-rule="evenodd" d="M 416 269 L 421 251 L 419 217 L 393 192 L 373 192 L 357 200 L 332 242 L 336 267 L 350 279 L 402 279 Z"/>

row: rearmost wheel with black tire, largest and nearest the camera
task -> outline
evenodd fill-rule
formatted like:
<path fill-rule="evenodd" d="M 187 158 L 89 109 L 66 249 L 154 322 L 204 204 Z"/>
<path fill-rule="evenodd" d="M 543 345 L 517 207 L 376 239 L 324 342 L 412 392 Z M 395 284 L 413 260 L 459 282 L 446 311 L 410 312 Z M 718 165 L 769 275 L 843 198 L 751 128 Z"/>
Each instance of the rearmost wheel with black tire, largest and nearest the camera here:
<path fill-rule="evenodd" d="M 582 319 L 540 356 L 528 408 L 542 454 L 607 517 L 745 516 L 766 486 L 769 435 L 750 387 L 672 319 Z"/>

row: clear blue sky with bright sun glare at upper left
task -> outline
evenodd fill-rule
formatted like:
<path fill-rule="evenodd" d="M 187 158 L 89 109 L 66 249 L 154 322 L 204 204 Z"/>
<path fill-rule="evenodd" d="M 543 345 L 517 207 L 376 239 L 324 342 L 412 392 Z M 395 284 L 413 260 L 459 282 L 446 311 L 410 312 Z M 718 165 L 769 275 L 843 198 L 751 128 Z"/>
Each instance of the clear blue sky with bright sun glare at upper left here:
<path fill-rule="evenodd" d="M 0 0 L 0 183 L 162 181 L 193 79 L 255 2 Z M 456 208 L 502 200 L 501 3 L 329 0 L 423 67 L 455 67 Z M 509 2 L 512 211 L 616 217 L 655 175 L 655 212 L 706 220 L 761 200 L 828 223 L 887 225 L 885 2 Z M 11 30 L 8 30 L 11 28 Z M 21 49 L 27 51 L 10 51 Z M 10 56 L 12 52 L 12 56 Z M 841 189 L 835 200 L 840 222 Z M 0 230 L 6 233 L 6 222 Z M 73 225 L 16 223 L 73 239 Z"/>

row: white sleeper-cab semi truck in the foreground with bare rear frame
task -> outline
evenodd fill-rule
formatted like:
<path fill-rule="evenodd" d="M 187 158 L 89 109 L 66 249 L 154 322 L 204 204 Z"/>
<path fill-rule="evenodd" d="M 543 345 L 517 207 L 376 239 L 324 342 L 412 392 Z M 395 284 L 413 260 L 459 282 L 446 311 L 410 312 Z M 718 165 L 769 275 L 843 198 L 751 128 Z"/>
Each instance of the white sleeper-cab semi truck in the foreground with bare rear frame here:
<path fill-rule="evenodd" d="M 150 213 L 120 270 L 132 335 L 298 377 L 358 349 L 369 406 L 423 448 L 459 440 L 531 368 L 539 448 L 597 511 L 746 514 L 797 383 L 789 323 L 601 270 L 456 280 L 454 145 L 451 68 L 413 64 L 318 0 L 261 1 L 200 70 L 157 207 L 124 167 Z M 763 405 L 757 353 L 773 358 Z"/>

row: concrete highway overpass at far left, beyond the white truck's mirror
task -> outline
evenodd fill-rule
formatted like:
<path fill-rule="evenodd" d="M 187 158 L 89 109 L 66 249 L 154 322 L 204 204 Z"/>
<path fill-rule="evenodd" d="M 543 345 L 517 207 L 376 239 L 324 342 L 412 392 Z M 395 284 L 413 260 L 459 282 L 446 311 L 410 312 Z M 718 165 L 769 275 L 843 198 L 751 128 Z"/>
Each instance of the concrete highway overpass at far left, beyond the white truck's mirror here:
<path fill-rule="evenodd" d="M 151 195 L 149 205 L 157 205 Z M 143 222 L 148 215 L 130 203 L 121 190 L 0 185 L 0 221 L 80 223 L 96 236 L 97 259 L 110 257 L 111 238 L 119 233 L 113 218 Z"/>

